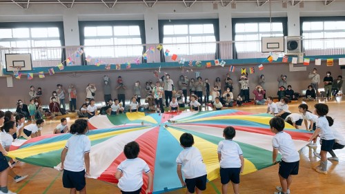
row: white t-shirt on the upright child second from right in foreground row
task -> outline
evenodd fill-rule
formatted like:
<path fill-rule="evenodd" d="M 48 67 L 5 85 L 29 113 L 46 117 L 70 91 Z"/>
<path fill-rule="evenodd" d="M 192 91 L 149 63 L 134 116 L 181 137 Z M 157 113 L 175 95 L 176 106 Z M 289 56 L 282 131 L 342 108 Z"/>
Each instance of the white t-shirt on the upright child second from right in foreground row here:
<path fill-rule="evenodd" d="M 243 155 L 239 144 L 233 140 L 225 139 L 218 144 L 218 153 L 221 153 L 221 168 L 240 168 L 242 166 L 239 156 Z"/>

